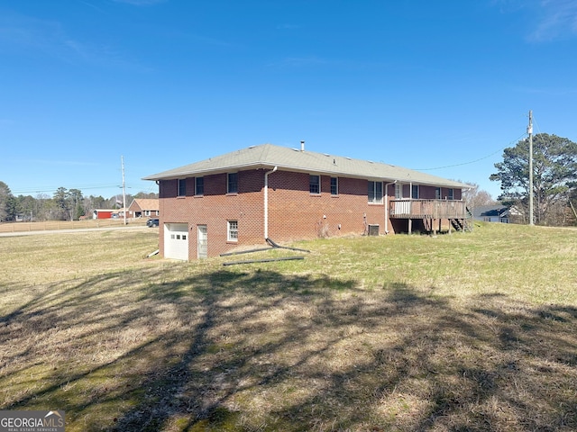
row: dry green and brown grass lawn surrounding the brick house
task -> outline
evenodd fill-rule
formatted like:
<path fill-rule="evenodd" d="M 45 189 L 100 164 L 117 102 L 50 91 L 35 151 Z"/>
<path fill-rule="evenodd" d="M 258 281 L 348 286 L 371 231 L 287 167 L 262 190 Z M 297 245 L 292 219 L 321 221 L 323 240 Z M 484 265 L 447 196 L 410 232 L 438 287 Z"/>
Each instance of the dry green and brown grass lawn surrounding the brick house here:
<path fill-rule="evenodd" d="M 156 229 L 0 238 L 0 410 L 67 431 L 577 429 L 577 230 L 179 263 Z"/>

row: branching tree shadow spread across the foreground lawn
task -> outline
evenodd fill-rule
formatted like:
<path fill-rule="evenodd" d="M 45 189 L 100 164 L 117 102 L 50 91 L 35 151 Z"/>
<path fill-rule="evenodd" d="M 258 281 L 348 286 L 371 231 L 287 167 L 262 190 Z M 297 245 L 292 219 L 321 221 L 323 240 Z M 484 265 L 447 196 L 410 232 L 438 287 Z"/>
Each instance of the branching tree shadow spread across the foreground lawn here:
<path fill-rule="evenodd" d="M 3 404 L 66 410 L 67 430 L 577 428 L 571 306 L 274 271 L 169 280 L 148 270 L 46 290 L 0 323 L 3 345 L 11 329 L 70 331 L 44 385 Z M 28 373 L 34 349 L 3 364 L 22 359 L 7 369 Z"/>

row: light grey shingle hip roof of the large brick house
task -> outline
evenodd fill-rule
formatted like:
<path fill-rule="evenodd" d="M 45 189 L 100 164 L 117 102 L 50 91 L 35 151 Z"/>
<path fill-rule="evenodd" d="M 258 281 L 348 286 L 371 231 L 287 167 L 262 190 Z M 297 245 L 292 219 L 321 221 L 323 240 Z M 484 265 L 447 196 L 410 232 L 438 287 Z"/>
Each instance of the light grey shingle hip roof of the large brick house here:
<path fill-rule="evenodd" d="M 402 183 L 429 184 L 445 187 L 466 188 L 468 184 L 455 182 L 436 175 L 429 175 L 401 166 L 383 164 L 370 160 L 353 159 L 301 151 L 272 144 L 262 144 L 210 157 L 194 164 L 169 169 L 159 174 L 148 175 L 143 180 L 169 180 L 195 175 L 210 175 L 242 169 L 268 168 L 298 171 L 310 174 L 357 177 Z"/>

